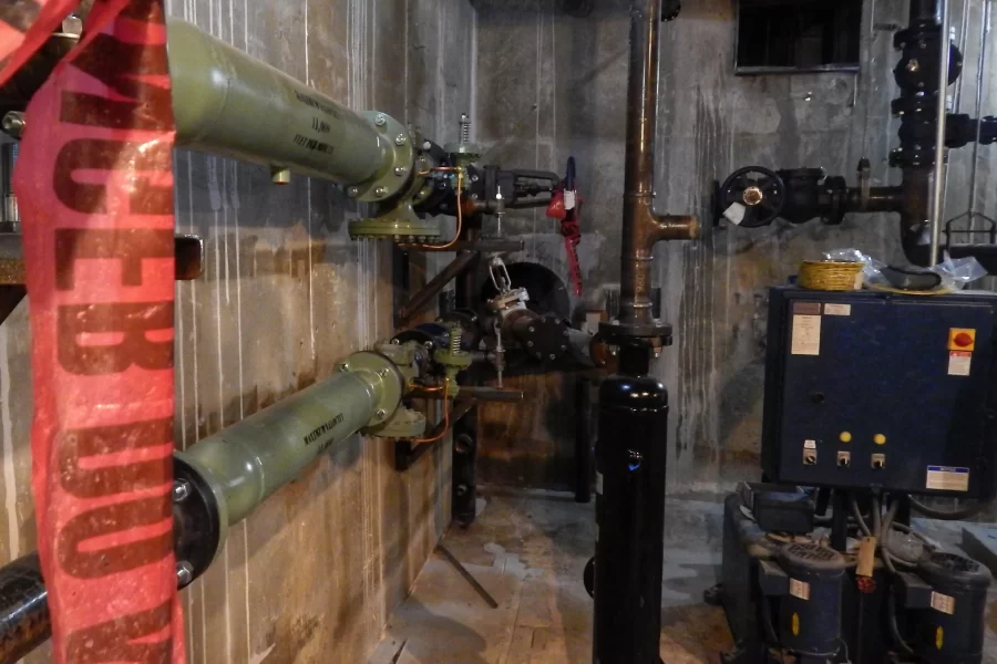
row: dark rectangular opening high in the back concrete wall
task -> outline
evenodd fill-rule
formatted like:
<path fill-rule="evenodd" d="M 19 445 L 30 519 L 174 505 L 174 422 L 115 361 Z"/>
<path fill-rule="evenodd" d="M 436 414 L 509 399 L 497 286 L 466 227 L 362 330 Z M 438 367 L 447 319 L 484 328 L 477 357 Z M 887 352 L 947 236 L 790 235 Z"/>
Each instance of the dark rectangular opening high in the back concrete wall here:
<path fill-rule="evenodd" d="M 862 0 L 738 0 L 737 73 L 859 71 Z"/>

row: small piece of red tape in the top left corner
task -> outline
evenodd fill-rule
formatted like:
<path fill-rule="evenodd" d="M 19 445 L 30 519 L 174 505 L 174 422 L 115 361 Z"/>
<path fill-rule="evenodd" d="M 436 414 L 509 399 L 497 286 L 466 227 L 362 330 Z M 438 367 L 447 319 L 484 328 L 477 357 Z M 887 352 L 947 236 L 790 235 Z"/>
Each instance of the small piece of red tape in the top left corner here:
<path fill-rule="evenodd" d="M 38 51 L 80 0 L 0 2 L 0 85 Z"/>

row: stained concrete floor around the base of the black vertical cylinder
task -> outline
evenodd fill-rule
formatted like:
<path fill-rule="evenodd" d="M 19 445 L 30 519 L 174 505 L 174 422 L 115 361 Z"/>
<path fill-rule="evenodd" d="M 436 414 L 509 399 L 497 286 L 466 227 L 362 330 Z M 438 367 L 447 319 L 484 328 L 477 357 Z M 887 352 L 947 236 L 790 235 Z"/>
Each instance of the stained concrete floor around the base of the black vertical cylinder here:
<path fill-rule="evenodd" d="M 442 544 L 498 602 L 491 609 L 439 552 L 389 622 L 369 664 L 588 664 L 592 600 L 582 582 L 593 554 L 594 505 L 543 491 L 489 489 L 477 521 Z M 668 664 L 719 662 L 732 645 L 722 611 L 702 603 L 716 583 L 721 506 L 669 499 L 661 655 Z M 955 525 L 921 525 L 958 541 Z M 997 662 L 997 595 L 988 654 Z"/>

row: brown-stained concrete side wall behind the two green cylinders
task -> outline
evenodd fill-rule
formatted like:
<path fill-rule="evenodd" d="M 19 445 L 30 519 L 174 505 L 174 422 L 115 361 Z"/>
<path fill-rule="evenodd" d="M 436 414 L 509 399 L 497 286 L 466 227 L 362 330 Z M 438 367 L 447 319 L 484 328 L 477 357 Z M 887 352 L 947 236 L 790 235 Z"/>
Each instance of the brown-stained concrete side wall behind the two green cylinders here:
<path fill-rule="evenodd" d="M 465 0 L 167 0 L 255 58 L 341 103 L 433 131 L 471 103 Z M 206 273 L 177 286 L 176 442 L 193 445 L 392 333 L 391 258 L 351 242 L 333 186 L 176 153 L 177 229 Z M 35 547 L 27 307 L 0 326 L 0 562 Z M 392 445 L 353 437 L 234 527 L 183 592 L 189 662 L 366 662 L 450 522 L 450 455 L 405 474 Z M 50 661 L 48 649 L 27 658 Z"/>

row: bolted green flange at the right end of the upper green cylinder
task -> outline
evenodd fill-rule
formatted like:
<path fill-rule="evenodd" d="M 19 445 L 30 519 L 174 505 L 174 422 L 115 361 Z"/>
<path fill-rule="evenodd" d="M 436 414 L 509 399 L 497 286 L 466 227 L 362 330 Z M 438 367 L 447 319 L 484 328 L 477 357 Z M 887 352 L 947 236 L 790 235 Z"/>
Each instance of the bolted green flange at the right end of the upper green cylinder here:
<path fill-rule="evenodd" d="M 398 197 L 415 174 L 415 137 L 409 128 L 387 113 L 364 111 L 361 116 L 378 132 L 386 153 L 386 164 L 370 179 L 350 185 L 347 196 L 363 203 L 379 203 Z"/>

